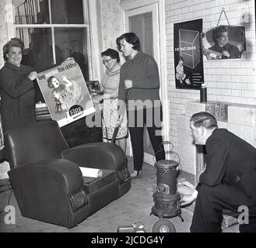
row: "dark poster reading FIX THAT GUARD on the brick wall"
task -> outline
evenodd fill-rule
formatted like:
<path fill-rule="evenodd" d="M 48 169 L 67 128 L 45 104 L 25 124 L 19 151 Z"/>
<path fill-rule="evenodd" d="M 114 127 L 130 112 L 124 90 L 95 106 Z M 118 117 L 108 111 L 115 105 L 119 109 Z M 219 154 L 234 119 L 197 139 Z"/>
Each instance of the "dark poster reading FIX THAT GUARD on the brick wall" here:
<path fill-rule="evenodd" d="M 202 19 L 174 23 L 176 88 L 197 89 L 204 83 Z"/>

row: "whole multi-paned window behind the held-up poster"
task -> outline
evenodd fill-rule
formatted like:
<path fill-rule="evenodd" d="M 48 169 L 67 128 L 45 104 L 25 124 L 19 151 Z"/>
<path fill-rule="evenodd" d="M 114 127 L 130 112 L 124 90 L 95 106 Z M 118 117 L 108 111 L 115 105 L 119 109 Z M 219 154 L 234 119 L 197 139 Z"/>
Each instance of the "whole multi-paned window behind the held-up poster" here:
<path fill-rule="evenodd" d="M 89 80 L 87 0 L 12 0 L 12 3 L 16 36 L 25 44 L 22 63 L 44 71 L 67 57 L 74 57 L 85 80 Z"/>

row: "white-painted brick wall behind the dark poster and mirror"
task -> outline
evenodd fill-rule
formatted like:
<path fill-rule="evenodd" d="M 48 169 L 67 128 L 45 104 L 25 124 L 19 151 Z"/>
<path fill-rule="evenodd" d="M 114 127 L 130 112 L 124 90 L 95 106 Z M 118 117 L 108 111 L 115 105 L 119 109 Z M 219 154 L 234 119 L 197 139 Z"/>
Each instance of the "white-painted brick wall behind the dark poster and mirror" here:
<path fill-rule="evenodd" d="M 175 88 L 174 23 L 203 19 L 203 32 L 215 27 L 222 8 L 230 25 L 245 26 L 247 50 L 237 60 L 207 60 L 204 56 L 205 84 L 212 101 L 256 105 L 256 42 L 254 0 L 166 0 L 167 78 L 170 100 L 170 140 L 177 149 L 177 118 L 185 114 L 187 102 L 199 99 L 197 90 Z M 249 15 L 246 15 L 249 14 Z M 242 17 L 248 22 L 243 23 Z M 219 25 L 227 25 L 222 15 Z"/>

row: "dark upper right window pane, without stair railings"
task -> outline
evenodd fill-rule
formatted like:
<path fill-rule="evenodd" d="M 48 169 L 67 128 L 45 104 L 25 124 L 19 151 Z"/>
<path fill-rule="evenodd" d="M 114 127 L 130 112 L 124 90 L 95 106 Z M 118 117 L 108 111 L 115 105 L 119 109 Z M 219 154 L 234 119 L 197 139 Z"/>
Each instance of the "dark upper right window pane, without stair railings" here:
<path fill-rule="evenodd" d="M 54 24 L 83 24 L 82 0 L 51 0 Z"/>

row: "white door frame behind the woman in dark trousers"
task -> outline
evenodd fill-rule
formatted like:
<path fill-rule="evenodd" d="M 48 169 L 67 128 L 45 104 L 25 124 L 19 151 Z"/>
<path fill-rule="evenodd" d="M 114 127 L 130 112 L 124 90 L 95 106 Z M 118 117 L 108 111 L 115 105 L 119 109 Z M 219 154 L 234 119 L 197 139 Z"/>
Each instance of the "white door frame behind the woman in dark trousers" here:
<path fill-rule="evenodd" d="M 169 125 L 169 101 L 168 101 L 168 85 L 167 85 L 167 44 L 166 44 L 166 22 L 165 22 L 165 3 L 164 0 L 123 0 L 121 5 L 121 29 L 122 33 L 125 33 L 125 12 L 134 9 L 139 9 L 146 7 L 147 5 L 158 5 L 158 16 L 156 21 L 158 21 L 159 34 L 157 36 L 159 40 L 159 71 L 160 71 L 160 98 L 163 107 L 163 140 L 170 139 L 170 125 Z M 153 20 L 154 22 L 154 20 Z M 155 49 L 154 49 L 155 50 Z M 153 156 L 148 156 L 145 153 L 144 161 L 148 164 L 153 165 L 155 161 Z"/>

